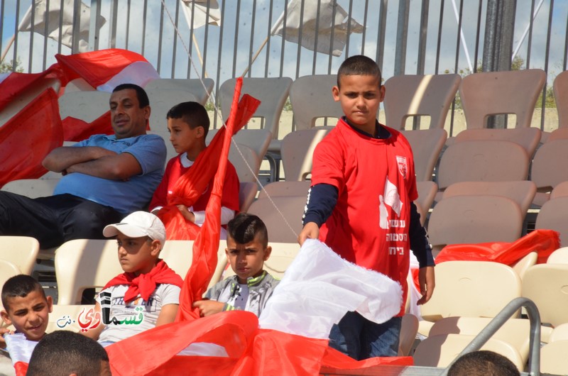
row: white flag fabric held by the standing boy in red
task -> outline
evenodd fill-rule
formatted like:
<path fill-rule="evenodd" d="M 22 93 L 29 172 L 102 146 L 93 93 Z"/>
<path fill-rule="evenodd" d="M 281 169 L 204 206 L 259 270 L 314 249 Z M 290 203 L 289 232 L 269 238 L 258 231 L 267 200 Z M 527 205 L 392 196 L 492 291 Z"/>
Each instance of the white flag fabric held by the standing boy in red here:
<path fill-rule="evenodd" d="M 307 239 L 258 319 L 261 328 L 328 338 L 347 311 L 383 323 L 398 314 L 403 289 L 379 272 L 347 262 Z"/>

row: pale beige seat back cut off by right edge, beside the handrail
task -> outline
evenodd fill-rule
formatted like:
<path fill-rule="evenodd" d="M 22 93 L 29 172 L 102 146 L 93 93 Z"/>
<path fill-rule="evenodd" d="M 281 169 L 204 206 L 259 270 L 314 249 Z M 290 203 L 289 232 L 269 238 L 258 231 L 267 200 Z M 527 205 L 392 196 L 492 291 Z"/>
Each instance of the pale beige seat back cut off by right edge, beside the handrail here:
<path fill-rule="evenodd" d="M 523 297 L 535 302 L 542 323 L 559 326 L 568 323 L 568 265 L 539 264 L 530 267 L 523 278 Z"/>

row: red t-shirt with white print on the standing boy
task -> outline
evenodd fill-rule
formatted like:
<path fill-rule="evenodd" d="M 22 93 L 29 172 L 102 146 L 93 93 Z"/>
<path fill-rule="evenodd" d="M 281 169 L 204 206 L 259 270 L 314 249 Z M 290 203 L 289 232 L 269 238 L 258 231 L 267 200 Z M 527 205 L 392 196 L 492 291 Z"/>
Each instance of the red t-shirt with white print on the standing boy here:
<path fill-rule="evenodd" d="M 408 294 L 410 203 L 417 190 L 410 144 L 400 132 L 388 131 L 390 138 L 371 138 L 340 119 L 315 148 L 312 185 L 331 184 L 339 192 L 320 240 L 345 260 L 400 282 L 402 315 Z M 345 226 L 347 218 L 353 226 Z"/>

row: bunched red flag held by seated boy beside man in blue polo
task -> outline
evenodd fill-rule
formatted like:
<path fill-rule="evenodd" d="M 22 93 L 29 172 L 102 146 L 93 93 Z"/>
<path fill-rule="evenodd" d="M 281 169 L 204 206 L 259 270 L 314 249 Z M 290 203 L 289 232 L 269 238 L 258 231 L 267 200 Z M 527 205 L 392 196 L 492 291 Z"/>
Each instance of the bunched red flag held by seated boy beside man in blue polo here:
<path fill-rule="evenodd" d="M 168 239 L 193 240 L 197 238 L 197 234 L 200 233 L 200 227 L 195 223 L 186 221 L 176 205 L 184 204 L 187 207 L 192 206 L 201 196 L 202 192 L 205 191 L 215 171 L 217 171 L 217 169 L 221 171 L 221 165 L 226 165 L 227 155 L 229 155 L 230 137 L 249 121 L 260 104 L 260 101 L 247 94 L 243 96 L 240 102 L 237 101 L 238 98 L 239 96 L 236 96 L 236 100 L 231 107 L 231 109 L 237 109 L 236 113 L 235 111 L 231 111 L 233 120 L 231 121 L 231 117 L 229 116 L 226 128 L 221 128 L 219 132 L 215 134 L 209 146 L 197 156 L 192 167 L 175 182 L 172 188 L 172 194 L 168 195 L 168 205 L 164 206 L 158 212 L 158 217 L 160 217 L 164 223 Z M 231 122 L 230 128 L 229 122 Z M 225 133 L 229 135 L 226 141 L 224 141 Z M 223 143 L 223 150 L 224 145 L 227 144 L 226 153 L 223 151 L 223 157 L 221 143 Z M 225 168 L 226 167 L 223 167 L 223 179 L 225 176 Z M 219 194 L 222 194 L 222 185 L 220 188 L 221 191 L 219 191 Z M 214 192 L 212 192 L 211 197 L 214 197 Z M 209 201 L 211 200 L 209 199 Z M 219 206 L 219 213 L 220 210 Z M 207 216 L 208 214 L 206 214 L 206 218 Z M 220 227 L 221 225 L 219 224 L 219 228 Z M 215 254 L 217 255 L 217 249 L 215 250 Z"/>

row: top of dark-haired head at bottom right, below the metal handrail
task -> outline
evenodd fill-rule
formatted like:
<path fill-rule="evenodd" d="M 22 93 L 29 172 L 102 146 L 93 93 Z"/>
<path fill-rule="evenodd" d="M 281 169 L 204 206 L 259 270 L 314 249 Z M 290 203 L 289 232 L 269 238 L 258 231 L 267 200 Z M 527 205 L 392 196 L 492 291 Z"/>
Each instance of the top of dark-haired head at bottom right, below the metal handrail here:
<path fill-rule="evenodd" d="M 448 370 L 448 376 L 518 376 L 517 367 L 505 356 L 488 350 L 467 353 Z"/>

